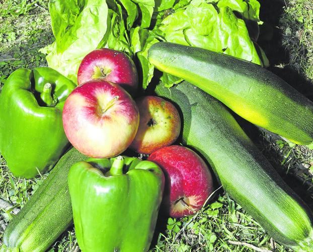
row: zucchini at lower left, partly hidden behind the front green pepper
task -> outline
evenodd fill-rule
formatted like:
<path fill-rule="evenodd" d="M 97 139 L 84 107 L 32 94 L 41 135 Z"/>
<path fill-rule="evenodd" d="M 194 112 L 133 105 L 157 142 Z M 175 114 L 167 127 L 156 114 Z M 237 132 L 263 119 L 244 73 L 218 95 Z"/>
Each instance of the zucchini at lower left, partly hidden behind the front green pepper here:
<path fill-rule="evenodd" d="M 73 222 L 67 186 L 69 168 L 87 157 L 71 148 L 12 219 L 0 251 L 45 251 Z"/>

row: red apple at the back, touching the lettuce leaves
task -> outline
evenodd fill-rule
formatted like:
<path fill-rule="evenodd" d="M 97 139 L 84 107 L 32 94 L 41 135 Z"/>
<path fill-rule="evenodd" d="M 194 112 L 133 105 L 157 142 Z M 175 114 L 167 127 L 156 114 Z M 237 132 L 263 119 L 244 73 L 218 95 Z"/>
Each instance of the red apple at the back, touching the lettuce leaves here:
<path fill-rule="evenodd" d="M 108 48 L 88 53 L 77 73 L 79 85 L 98 79 L 118 84 L 130 94 L 138 87 L 138 74 L 132 59 L 124 52 Z"/>

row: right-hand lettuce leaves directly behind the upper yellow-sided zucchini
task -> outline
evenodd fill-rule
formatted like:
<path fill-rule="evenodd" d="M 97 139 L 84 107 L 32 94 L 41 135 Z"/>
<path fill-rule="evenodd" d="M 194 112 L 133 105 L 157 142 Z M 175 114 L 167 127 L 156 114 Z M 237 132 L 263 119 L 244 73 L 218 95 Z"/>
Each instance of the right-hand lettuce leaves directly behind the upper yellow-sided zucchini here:
<path fill-rule="evenodd" d="M 251 39 L 245 22 L 245 19 L 260 21 L 258 1 L 187 0 L 186 3 L 188 5 L 181 3 L 181 8 L 160 24 L 161 36 L 166 41 L 225 53 L 261 66 L 268 64 L 262 49 Z M 169 76 L 162 80 L 168 87 L 178 81 Z"/>

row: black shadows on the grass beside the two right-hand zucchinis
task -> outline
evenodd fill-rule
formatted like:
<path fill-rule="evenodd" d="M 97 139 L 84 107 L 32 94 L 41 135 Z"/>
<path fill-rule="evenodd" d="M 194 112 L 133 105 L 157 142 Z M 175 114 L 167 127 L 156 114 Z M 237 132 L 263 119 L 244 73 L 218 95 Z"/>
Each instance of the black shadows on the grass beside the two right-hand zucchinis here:
<path fill-rule="evenodd" d="M 311 81 L 308 81 L 304 77 L 304 73 L 299 73 L 297 70 L 289 65 L 290 57 L 293 53 L 297 52 L 288 51 L 287 48 L 283 46 L 282 41 L 284 34 L 281 33 L 281 30 L 279 28 L 277 28 L 281 26 L 279 20 L 283 15 L 285 2 L 281 0 L 259 0 L 259 2 L 261 4 L 260 19 L 266 22 L 269 27 L 273 28 L 273 37 L 271 39 L 258 41 L 258 43 L 264 49 L 266 55 L 269 58 L 271 64 L 269 70 L 285 80 L 298 92 L 302 93 L 308 99 L 313 101 L 313 83 Z M 292 18 L 294 18 L 286 15 L 287 14 L 284 14 L 284 18 L 287 20 L 291 20 Z M 299 41 L 296 41 L 296 43 L 299 44 Z M 305 52 L 306 48 L 303 48 L 303 51 Z M 280 64 L 285 65 L 285 67 L 277 67 Z M 271 143 L 265 138 L 260 138 L 259 130 L 254 125 L 245 121 L 239 116 L 236 116 L 236 119 L 240 121 L 247 134 L 254 141 L 254 143 L 256 143 L 256 145 L 261 147 L 261 149 L 262 147 L 264 148 L 264 146 L 271 145 Z M 273 136 L 273 138 L 275 139 L 276 136 Z M 265 141 L 265 143 L 263 141 Z M 309 205 L 311 209 L 313 209 L 312 183 L 310 181 L 306 181 L 304 178 L 298 175 L 295 175 L 295 173 L 297 173 L 296 171 L 291 170 L 291 172 L 287 172 L 286 167 L 283 167 L 283 165 L 281 165 L 280 159 L 282 160 L 283 157 L 279 150 L 273 151 L 273 148 L 269 148 L 268 150 L 263 149 L 263 154 L 267 157 L 267 159 L 269 159 L 271 164 L 276 168 L 276 170 L 283 177 L 285 182 L 304 200 L 307 205 Z M 306 173 L 306 175 L 311 177 L 311 175 L 307 172 L 307 169 L 303 171 L 303 173 Z"/>

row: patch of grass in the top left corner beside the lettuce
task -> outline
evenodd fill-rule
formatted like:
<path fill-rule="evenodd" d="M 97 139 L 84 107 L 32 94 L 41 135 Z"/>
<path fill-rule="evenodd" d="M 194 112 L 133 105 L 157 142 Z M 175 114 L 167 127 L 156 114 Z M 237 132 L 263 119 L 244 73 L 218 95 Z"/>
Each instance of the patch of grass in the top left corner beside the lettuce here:
<path fill-rule="evenodd" d="M 45 66 L 38 53 L 50 44 L 48 1 L 0 1 L 0 83 L 16 69 Z"/>

